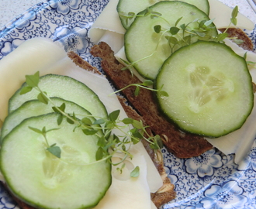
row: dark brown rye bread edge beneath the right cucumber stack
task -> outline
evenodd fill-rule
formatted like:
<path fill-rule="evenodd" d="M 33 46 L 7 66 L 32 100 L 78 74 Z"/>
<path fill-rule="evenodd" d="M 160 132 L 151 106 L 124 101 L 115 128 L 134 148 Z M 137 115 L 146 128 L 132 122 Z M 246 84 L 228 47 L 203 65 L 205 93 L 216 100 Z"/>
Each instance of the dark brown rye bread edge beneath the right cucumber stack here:
<path fill-rule="evenodd" d="M 141 83 L 129 70 L 121 70 L 123 65 L 116 60 L 108 44 L 102 42 L 92 46 L 91 53 L 94 57 L 102 58 L 102 69 L 117 89 Z M 169 122 L 157 107 L 152 91 L 141 88 L 139 96 L 135 96 L 134 91 L 135 87 L 128 87 L 123 95 L 150 126 L 151 131 L 161 136 L 169 152 L 179 158 L 190 158 L 213 148 L 202 136 L 181 132 L 176 125 Z"/>

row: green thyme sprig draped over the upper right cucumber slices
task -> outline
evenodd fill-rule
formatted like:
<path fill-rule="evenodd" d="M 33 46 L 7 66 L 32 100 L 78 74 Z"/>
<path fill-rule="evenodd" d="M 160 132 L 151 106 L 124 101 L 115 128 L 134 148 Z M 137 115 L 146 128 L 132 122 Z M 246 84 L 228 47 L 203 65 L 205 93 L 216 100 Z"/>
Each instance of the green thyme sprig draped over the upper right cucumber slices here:
<path fill-rule="evenodd" d="M 237 15 L 238 15 L 238 7 L 234 7 L 231 18 L 230 18 L 230 24 L 227 26 L 227 29 L 230 28 L 230 26 L 233 24 L 234 26 L 237 25 Z M 149 57 L 152 57 L 155 53 L 157 53 L 157 48 L 159 47 L 159 44 L 161 43 L 161 39 L 164 37 L 168 41 L 168 45 L 171 49 L 171 53 L 174 53 L 175 50 L 178 50 L 178 48 L 182 46 L 187 46 L 195 39 L 200 40 L 211 40 L 216 42 L 224 42 L 224 39 L 234 39 L 235 43 L 242 43 L 243 41 L 237 38 L 230 38 L 228 37 L 227 29 L 223 33 L 220 33 L 216 36 L 211 36 L 209 32 L 215 28 L 215 26 L 212 25 L 214 19 L 195 19 L 192 22 L 189 22 L 187 24 L 183 23 L 179 25 L 180 21 L 182 20 L 182 17 L 178 18 L 175 22 L 174 26 L 171 26 L 171 24 L 162 17 L 161 13 L 154 12 L 150 8 L 146 9 L 146 12 L 142 13 L 140 12 L 138 15 L 136 15 L 134 12 L 119 12 L 119 17 L 126 22 L 128 25 L 129 21 L 133 21 L 136 17 L 139 16 L 148 16 L 150 15 L 151 19 L 161 18 L 164 20 L 164 22 L 168 23 L 169 28 L 163 28 L 161 25 L 154 26 L 154 31 L 152 33 L 161 33 L 161 36 L 159 36 L 157 45 L 152 53 L 147 55 L 146 57 L 140 58 L 139 60 L 129 62 L 126 60 L 122 60 L 123 63 L 125 63 L 126 67 L 123 67 L 122 70 L 129 69 L 131 72 L 133 70 L 133 67 L 136 63 L 140 62 L 141 60 L 146 60 Z M 193 23 L 193 26 L 191 26 Z"/>

